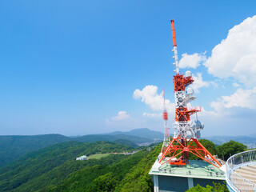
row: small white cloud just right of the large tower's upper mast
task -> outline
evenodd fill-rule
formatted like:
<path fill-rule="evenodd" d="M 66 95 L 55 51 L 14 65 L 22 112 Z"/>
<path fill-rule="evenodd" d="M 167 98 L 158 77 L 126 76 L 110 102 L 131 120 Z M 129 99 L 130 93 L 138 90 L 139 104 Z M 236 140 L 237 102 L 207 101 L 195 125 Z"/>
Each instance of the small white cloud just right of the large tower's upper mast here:
<path fill-rule="evenodd" d="M 200 66 L 201 62 L 206 61 L 206 56 L 204 54 L 182 54 L 182 58 L 178 64 L 180 68 L 197 68 Z"/>

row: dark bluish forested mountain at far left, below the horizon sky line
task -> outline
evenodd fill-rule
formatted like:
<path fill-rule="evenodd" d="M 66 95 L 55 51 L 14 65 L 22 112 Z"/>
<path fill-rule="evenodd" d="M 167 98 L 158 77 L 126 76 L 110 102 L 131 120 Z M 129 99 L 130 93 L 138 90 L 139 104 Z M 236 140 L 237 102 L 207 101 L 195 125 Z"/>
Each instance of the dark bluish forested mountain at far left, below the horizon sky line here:
<path fill-rule="evenodd" d="M 6 166 L 31 151 L 68 141 L 70 138 L 61 134 L 0 136 L 0 166 Z"/>

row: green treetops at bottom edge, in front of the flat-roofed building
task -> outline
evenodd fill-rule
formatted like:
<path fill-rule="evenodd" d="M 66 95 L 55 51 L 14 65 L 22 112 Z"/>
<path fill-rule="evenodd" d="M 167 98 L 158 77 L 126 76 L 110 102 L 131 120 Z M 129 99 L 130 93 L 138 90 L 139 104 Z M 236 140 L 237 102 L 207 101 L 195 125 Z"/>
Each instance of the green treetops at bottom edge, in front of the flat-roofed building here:
<path fill-rule="evenodd" d="M 186 192 L 229 192 L 228 188 L 226 187 L 226 182 L 224 182 L 223 184 L 215 183 L 215 182 L 213 183 L 214 183 L 214 186 L 207 185 L 206 187 L 202 187 L 197 185 L 190 188 Z"/>

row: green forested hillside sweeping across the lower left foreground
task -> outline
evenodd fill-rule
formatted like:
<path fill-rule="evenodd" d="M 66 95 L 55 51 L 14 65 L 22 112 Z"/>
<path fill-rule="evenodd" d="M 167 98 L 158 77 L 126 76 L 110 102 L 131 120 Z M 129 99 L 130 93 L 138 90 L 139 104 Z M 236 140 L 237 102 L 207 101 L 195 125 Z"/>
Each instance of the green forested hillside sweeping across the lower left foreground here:
<path fill-rule="evenodd" d="M 130 146 L 114 142 L 64 142 L 26 154 L 0 168 L 0 191 L 125 191 L 126 181 L 148 188 L 148 174 L 160 146 L 136 154 L 110 154 L 101 159 L 75 161 L 82 154 L 123 152 Z M 134 191 L 137 191 L 134 190 Z"/>

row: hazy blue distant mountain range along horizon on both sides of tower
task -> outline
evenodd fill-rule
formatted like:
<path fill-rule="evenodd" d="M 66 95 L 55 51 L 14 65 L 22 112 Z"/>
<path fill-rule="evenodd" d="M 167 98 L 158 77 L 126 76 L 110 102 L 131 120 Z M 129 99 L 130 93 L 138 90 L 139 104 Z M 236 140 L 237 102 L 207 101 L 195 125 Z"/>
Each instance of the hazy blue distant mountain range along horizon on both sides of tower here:
<path fill-rule="evenodd" d="M 108 134 L 87 134 L 79 137 L 66 137 L 62 134 L 42 134 L 33 136 L 10 135 L 0 136 L 0 167 L 21 158 L 35 150 L 52 146 L 61 142 L 118 142 L 127 146 L 150 145 L 153 142 L 162 142 L 163 133 L 147 128 L 130 131 L 115 131 Z M 234 140 L 256 148 L 256 134 L 250 136 L 210 136 L 205 137 L 217 145 Z"/>

